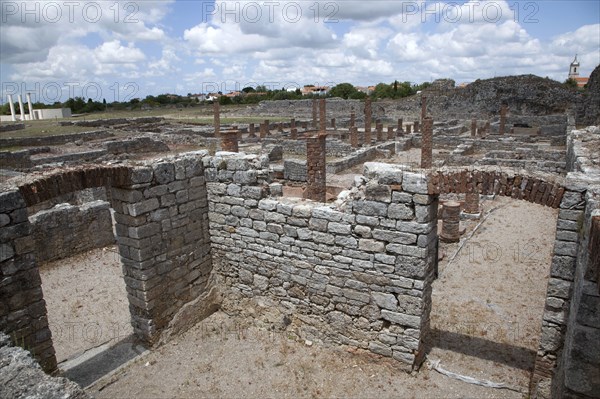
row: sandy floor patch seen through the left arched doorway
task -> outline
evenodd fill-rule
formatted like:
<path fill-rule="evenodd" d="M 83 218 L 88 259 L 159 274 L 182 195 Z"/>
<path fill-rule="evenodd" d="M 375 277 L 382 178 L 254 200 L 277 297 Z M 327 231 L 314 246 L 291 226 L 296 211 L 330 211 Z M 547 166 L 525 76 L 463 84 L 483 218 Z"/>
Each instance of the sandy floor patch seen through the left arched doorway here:
<path fill-rule="evenodd" d="M 133 333 L 116 246 L 40 267 L 57 361 Z"/>

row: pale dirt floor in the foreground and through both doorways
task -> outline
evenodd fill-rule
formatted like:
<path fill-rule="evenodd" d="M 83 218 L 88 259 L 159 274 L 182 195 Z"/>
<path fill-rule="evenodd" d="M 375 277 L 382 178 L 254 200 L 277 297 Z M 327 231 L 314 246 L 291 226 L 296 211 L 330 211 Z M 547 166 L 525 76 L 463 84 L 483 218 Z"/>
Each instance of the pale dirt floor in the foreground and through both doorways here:
<path fill-rule="evenodd" d="M 507 198 L 482 207 L 480 220 L 464 222 L 468 239 L 456 256 L 459 244 L 440 247 L 428 358 L 512 390 L 467 384 L 428 363 L 407 374 L 362 350 L 270 331 L 265 314 L 274 309 L 263 304 L 250 319 L 219 311 L 87 391 L 96 398 L 522 398 L 539 339 L 556 211 Z M 48 265 L 42 279 L 60 359 L 116 339 L 104 326 L 120 326 L 118 338 L 130 333 L 122 329 L 129 313 L 114 248 Z M 63 327 L 59 337 L 57 326 L 66 325 L 78 326 L 75 334 Z M 86 326 L 96 326 L 87 328 L 95 335 L 77 332 Z"/>

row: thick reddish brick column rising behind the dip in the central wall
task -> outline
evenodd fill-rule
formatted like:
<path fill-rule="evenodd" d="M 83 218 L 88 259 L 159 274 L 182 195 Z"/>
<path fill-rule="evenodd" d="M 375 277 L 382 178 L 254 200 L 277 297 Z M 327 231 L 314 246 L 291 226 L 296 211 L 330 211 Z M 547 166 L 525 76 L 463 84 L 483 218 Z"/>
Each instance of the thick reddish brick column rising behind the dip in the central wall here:
<path fill-rule="evenodd" d="M 325 139 L 326 135 L 306 139 L 307 187 L 305 196 L 318 202 L 326 199 Z"/>

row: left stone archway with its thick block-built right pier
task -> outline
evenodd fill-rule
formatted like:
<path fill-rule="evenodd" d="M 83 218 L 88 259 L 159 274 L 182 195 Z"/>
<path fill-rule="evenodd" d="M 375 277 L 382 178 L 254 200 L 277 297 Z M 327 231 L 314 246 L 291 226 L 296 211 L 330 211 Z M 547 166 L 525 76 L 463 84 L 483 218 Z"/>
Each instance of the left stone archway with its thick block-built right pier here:
<path fill-rule="evenodd" d="M 0 194 L 0 330 L 29 349 L 44 370 L 57 364 L 27 207 L 86 188 L 110 190 L 131 323 L 136 336 L 152 345 L 165 330 L 183 330 L 206 316 L 180 312 L 204 293 L 212 269 L 198 155 L 140 167 L 63 170 Z"/>

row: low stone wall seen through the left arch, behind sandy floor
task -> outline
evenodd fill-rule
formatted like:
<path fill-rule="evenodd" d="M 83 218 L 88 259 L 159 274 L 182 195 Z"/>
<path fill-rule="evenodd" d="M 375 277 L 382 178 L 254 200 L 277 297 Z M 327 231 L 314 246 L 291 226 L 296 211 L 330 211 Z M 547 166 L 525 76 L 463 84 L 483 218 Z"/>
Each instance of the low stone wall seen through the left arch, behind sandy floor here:
<path fill-rule="evenodd" d="M 29 218 L 38 262 L 68 258 L 115 243 L 109 203 L 61 204 Z"/>

